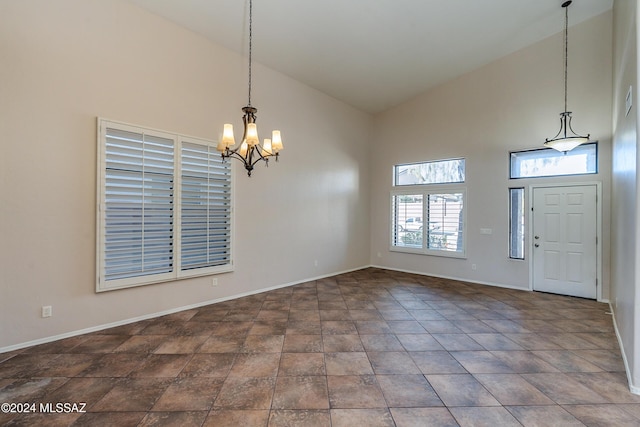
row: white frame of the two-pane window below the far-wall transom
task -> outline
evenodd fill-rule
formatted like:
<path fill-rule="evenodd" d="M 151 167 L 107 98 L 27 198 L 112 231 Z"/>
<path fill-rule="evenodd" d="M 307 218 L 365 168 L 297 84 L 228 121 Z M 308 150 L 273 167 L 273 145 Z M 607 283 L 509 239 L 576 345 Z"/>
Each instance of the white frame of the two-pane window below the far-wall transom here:
<path fill-rule="evenodd" d="M 461 251 L 448 251 L 444 249 L 430 249 L 428 247 L 428 198 L 430 195 L 438 195 L 438 194 L 452 194 L 452 193 L 461 193 L 462 194 L 462 250 Z M 396 233 L 396 224 L 395 224 L 395 206 L 394 199 L 398 196 L 406 196 L 406 195 L 421 195 L 422 196 L 422 219 L 423 223 L 427 224 L 427 227 L 422 228 L 422 247 L 410 247 L 410 246 L 398 246 L 395 245 L 394 235 Z M 404 253 L 413 253 L 420 255 L 432 255 L 432 256 L 441 256 L 441 257 L 449 257 L 449 258 L 461 258 L 466 259 L 467 257 L 467 188 L 459 185 L 451 185 L 451 184 L 425 184 L 425 185 L 414 185 L 414 186 L 402 186 L 401 189 L 396 189 L 391 191 L 390 197 L 390 245 L 389 250 L 392 252 L 404 252 Z"/>

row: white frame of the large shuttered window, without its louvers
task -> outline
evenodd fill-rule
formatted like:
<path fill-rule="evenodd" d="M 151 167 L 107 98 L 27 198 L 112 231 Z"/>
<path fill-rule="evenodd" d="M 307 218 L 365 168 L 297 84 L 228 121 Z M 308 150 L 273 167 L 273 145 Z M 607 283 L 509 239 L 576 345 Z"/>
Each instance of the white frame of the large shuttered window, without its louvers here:
<path fill-rule="evenodd" d="M 182 227 L 182 170 L 181 155 L 183 142 L 209 147 L 215 152 L 216 142 L 201 138 L 179 135 L 176 133 L 149 129 L 142 126 L 131 125 L 103 118 L 98 118 L 97 126 L 97 206 L 96 206 L 96 292 L 104 292 L 115 289 L 130 288 L 135 286 L 149 285 L 153 283 L 161 283 L 189 277 L 206 276 L 233 271 L 234 260 L 234 168 L 232 162 L 228 162 L 229 176 L 229 249 L 228 262 L 224 265 L 208 266 L 182 270 L 181 258 L 181 227 Z M 173 141 L 173 266 L 172 271 L 140 275 L 128 278 L 119 278 L 107 280 L 105 277 L 105 196 L 106 196 L 106 133 L 107 129 L 117 129 L 125 132 L 143 133 L 145 135 L 170 139 Z M 217 155 L 217 152 L 216 152 Z M 222 161 L 220 158 L 219 161 Z"/>

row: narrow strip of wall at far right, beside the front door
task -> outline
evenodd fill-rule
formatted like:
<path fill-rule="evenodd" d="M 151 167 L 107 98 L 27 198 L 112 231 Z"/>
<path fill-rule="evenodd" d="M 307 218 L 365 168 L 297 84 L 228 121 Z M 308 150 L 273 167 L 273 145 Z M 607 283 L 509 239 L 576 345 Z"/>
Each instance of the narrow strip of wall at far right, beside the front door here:
<path fill-rule="evenodd" d="M 631 386 L 640 392 L 640 228 L 638 227 L 638 25 L 637 2 L 614 2 L 613 209 L 611 303 Z M 625 98 L 633 88 L 634 105 Z"/>

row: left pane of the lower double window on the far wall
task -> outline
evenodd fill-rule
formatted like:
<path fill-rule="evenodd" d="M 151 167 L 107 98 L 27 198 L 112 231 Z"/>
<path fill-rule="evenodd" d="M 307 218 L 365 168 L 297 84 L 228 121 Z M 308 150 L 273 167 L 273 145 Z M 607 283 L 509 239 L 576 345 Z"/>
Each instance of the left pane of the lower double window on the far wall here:
<path fill-rule="evenodd" d="M 422 194 L 393 196 L 393 246 L 422 249 Z"/>

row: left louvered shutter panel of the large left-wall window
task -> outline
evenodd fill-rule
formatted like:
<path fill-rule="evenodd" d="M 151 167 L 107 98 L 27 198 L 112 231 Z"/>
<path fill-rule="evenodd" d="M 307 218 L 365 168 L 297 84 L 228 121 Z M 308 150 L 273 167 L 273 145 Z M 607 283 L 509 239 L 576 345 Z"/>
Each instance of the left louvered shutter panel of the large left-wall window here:
<path fill-rule="evenodd" d="M 107 128 L 105 279 L 173 268 L 171 139 Z"/>

